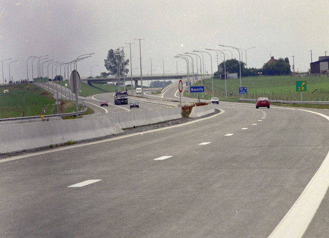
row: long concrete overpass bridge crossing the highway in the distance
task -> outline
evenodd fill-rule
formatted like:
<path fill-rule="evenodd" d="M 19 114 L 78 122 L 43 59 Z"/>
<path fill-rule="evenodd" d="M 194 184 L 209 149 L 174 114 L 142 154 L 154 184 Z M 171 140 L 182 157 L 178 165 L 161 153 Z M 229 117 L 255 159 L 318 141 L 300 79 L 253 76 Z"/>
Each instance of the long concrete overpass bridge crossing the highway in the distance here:
<path fill-rule="evenodd" d="M 142 75 L 142 80 L 170 80 L 170 79 L 182 79 L 187 77 L 187 74 L 153 74 Z M 124 77 L 110 77 L 110 78 L 81 78 L 81 82 L 91 83 L 107 83 L 107 82 L 119 82 L 119 81 L 131 81 L 131 76 Z M 135 88 L 138 87 L 138 81 L 141 81 L 141 75 L 132 75 L 132 80 L 135 82 Z"/>

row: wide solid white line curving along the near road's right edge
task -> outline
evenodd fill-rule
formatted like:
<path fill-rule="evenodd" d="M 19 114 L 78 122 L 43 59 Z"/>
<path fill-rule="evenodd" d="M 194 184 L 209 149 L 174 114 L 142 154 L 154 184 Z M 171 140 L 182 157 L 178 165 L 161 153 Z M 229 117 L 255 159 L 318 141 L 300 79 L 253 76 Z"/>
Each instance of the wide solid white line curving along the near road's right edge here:
<path fill-rule="evenodd" d="M 317 114 L 329 120 L 329 117 L 304 109 L 279 108 L 288 110 L 300 110 Z M 329 152 L 322 162 L 320 168 L 305 187 L 294 205 L 283 217 L 280 223 L 268 238 L 302 238 L 317 212 L 329 187 Z"/>

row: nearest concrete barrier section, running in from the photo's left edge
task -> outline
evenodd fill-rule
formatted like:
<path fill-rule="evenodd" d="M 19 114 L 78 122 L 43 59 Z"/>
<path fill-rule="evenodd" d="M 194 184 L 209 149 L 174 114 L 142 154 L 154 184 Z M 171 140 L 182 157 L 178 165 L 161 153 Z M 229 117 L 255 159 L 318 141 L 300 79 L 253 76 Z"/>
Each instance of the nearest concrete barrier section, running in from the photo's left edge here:
<path fill-rule="evenodd" d="M 109 117 L 0 125 L 0 154 L 122 133 Z"/>

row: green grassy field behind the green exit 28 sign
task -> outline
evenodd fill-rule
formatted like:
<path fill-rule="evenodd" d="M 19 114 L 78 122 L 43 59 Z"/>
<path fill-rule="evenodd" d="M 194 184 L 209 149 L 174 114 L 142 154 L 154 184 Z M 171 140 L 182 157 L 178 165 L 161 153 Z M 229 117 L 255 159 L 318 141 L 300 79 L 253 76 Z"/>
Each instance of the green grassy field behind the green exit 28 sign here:
<path fill-rule="evenodd" d="M 225 100 L 225 80 L 214 80 L 214 96 L 219 100 Z M 300 101 L 301 93 L 296 92 L 296 81 L 306 81 L 307 91 L 302 93 L 303 101 L 329 101 L 329 78 L 328 77 L 296 77 L 296 76 L 258 76 L 242 77 L 242 87 L 247 87 L 248 94 L 244 95 L 247 99 L 257 99 L 257 97 L 266 96 L 270 100 Z M 201 83 L 199 83 L 201 85 Z M 212 80 L 205 80 L 204 99 L 210 99 L 212 96 Z M 227 101 L 237 101 L 239 95 L 240 79 L 227 79 Z M 318 89 L 314 93 L 314 90 Z M 232 96 L 229 93 L 232 92 Z M 186 92 L 185 92 L 186 94 Z M 194 97 L 194 95 L 190 96 Z M 201 98 L 201 96 L 199 95 Z"/>

